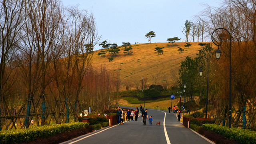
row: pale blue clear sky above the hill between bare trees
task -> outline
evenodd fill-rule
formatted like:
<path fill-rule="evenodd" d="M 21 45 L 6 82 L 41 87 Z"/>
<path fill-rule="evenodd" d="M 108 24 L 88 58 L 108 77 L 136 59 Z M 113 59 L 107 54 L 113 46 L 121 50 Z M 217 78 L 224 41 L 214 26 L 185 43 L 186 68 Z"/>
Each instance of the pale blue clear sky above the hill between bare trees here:
<path fill-rule="evenodd" d="M 154 31 L 151 42 L 167 42 L 181 38 L 185 20 L 194 20 L 206 8 L 219 7 L 220 0 L 62 0 L 64 6 L 78 6 L 91 12 L 96 21 L 99 43 L 148 43 L 146 34 Z M 94 50 L 101 49 L 96 45 Z"/>

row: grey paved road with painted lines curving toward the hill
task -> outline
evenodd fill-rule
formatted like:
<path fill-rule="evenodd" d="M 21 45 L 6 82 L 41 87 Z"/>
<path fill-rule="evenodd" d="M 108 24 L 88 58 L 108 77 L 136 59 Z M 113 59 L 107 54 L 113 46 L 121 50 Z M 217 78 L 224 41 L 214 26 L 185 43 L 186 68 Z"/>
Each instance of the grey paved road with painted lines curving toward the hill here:
<path fill-rule="evenodd" d="M 142 117 L 139 116 L 138 121 L 108 126 L 62 144 L 211 144 L 189 128 L 185 128 L 178 122 L 176 114 L 169 114 L 167 110 L 148 109 L 148 117 L 150 115 L 153 118 L 152 126 L 148 121 L 144 126 Z M 159 121 L 161 126 L 156 126 Z"/>

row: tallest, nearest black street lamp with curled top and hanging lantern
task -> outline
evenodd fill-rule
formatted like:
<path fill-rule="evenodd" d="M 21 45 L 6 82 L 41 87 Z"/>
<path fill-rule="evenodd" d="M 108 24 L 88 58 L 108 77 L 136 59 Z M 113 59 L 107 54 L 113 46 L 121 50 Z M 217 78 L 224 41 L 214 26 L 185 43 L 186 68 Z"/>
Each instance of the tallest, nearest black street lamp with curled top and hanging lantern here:
<path fill-rule="evenodd" d="M 222 30 L 226 30 L 225 28 L 217 28 L 216 30 L 219 30 L 219 29 L 222 29 Z M 212 32 L 212 35 L 213 33 L 216 31 L 214 30 Z M 229 50 L 229 123 L 228 123 L 228 127 L 231 128 L 231 120 L 232 120 L 232 111 L 231 111 L 231 96 L 232 96 L 232 85 L 231 85 L 231 34 L 228 30 L 226 30 L 229 34 L 229 43 L 230 43 L 230 50 Z M 220 55 L 221 55 L 221 50 L 219 48 L 219 46 L 222 44 L 222 39 L 219 37 L 220 39 L 220 44 L 216 44 L 213 40 L 213 37 L 212 37 L 212 42 L 218 46 L 218 49 L 215 51 L 215 54 L 216 54 L 216 59 L 219 60 L 220 59 Z"/>

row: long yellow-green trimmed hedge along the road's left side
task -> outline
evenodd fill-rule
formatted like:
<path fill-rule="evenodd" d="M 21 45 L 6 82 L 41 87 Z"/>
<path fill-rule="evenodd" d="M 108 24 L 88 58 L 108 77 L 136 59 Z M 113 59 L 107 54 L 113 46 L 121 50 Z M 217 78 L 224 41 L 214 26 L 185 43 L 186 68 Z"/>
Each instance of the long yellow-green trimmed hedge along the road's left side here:
<path fill-rule="evenodd" d="M 37 138 L 47 138 L 62 132 L 85 128 L 88 125 L 89 124 L 85 122 L 71 122 L 67 124 L 53 124 L 51 126 L 40 126 L 28 129 L 3 130 L 0 133 L 0 143 L 17 144 L 20 142 L 36 140 Z"/>

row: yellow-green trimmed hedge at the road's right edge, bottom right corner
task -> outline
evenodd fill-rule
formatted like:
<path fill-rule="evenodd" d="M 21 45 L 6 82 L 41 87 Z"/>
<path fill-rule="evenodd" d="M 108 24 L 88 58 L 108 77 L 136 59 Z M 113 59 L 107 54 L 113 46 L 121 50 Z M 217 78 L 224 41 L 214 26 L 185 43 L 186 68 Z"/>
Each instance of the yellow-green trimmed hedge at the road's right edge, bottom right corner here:
<path fill-rule="evenodd" d="M 241 144 L 256 144 L 256 132 L 240 128 L 228 128 L 216 124 L 203 124 L 206 130 L 221 134 L 228 139 L 240 142 Z"/>

